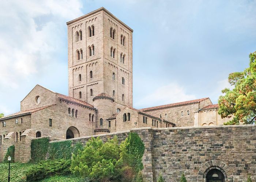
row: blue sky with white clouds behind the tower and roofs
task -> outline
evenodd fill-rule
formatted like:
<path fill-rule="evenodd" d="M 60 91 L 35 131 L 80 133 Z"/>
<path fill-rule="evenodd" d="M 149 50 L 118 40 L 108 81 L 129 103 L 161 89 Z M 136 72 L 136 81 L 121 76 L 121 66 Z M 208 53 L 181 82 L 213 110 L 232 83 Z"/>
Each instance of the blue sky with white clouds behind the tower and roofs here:
<path fill-rule="evenodd" d="M 40 84 L 68 95 L 66 22 L 105 7 L 133 29 L 133 107 L 209 97 L 256 51 L 256 0 L 0 0 L 0 113 Z"/>

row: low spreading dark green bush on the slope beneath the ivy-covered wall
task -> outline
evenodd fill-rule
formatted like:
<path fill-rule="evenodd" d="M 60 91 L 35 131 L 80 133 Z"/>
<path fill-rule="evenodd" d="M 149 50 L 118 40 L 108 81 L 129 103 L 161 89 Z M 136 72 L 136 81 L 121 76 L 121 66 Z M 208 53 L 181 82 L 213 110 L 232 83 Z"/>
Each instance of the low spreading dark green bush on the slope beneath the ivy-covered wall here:
<path fill-rule="evenodd" d="M 41 161 L 27 171 L 27 181 L 38 181 L 56 174 L 71 174 L 69 170 L 70 165 L 71 160 L 64 159 Z"/>

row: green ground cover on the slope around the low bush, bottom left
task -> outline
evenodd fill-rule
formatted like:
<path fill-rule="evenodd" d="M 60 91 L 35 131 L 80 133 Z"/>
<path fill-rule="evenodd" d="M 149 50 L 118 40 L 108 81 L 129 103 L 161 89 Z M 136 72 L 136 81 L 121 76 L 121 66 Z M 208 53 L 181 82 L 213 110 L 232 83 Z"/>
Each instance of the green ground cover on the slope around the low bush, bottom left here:
<path fill-rule="evenodd" d="M 29 167 L 36 165 L 34 163 L 11 163 L 10 176 L 11 182 L 26 182 L 26 171 Z M 0 163 L 0 181 L 8 182 L 8 163 Z M 40 182 L 79 182 L 81 178 L 74 175 L 68 176 L 53 176 L 42 179 Z"/>

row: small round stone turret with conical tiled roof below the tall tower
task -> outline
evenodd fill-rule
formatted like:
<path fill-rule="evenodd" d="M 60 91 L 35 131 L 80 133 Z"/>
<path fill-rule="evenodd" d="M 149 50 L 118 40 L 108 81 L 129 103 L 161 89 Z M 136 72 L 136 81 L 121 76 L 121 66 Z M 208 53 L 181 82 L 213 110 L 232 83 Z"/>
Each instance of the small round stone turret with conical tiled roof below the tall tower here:
<path fill-rule="evenodd" d="M 94 134 L 109 133 L 110 130 L 106 119 L 113 115 L 114 98 L 102 92 L 93 98 L 93 102 L 94 107 L 97 108 L 96 129 L 94 130 Z"/>

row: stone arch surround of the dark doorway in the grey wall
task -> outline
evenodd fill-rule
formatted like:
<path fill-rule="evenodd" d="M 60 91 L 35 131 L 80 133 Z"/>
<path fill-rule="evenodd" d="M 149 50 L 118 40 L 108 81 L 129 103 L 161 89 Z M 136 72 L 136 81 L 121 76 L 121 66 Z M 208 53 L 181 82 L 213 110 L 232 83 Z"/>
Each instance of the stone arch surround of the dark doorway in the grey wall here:
<path fill-rule="evenodd" d="M 206 174 L 212 169 L 220 170 L 224 174 L 225 182 L 233 181 L 233 173 L 229 166 L 218 160 L 212 160 L 204 163 L 204 165 L 198 171 L 197 181 L 206 182 Z"/>

